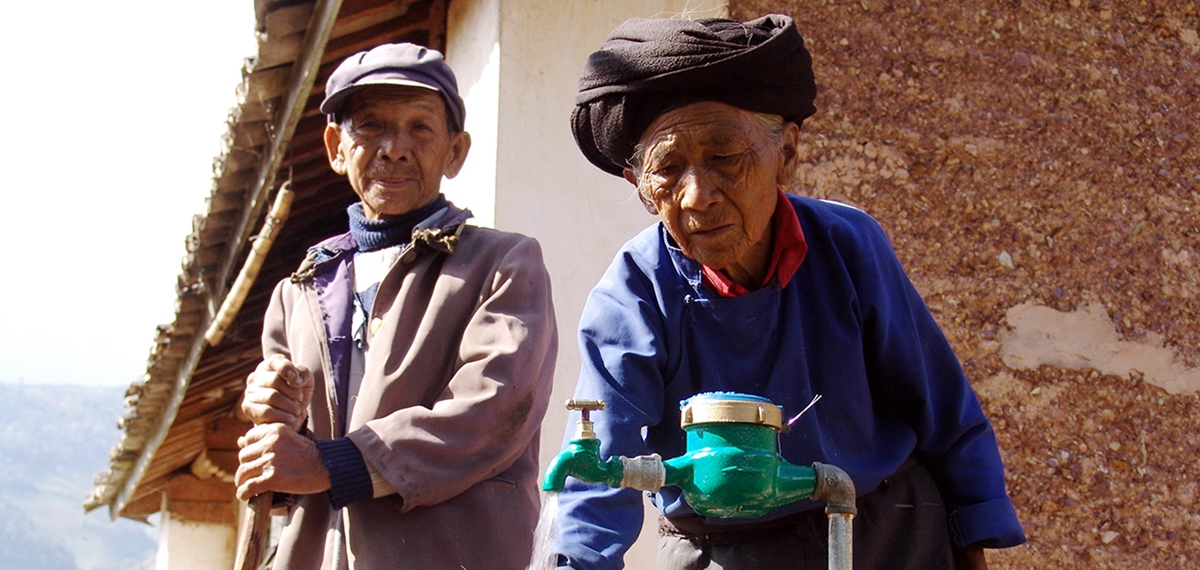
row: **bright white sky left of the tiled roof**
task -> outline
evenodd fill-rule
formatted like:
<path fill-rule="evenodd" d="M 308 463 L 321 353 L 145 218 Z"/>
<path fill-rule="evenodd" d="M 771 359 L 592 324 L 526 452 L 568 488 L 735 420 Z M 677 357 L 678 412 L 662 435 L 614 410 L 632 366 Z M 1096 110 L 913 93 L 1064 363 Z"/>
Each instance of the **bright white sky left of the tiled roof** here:
<path fill-rule="evenodd" d="M 145 372 L 256 50 L 253 5 L 0 8 L 0 383 Z"/>

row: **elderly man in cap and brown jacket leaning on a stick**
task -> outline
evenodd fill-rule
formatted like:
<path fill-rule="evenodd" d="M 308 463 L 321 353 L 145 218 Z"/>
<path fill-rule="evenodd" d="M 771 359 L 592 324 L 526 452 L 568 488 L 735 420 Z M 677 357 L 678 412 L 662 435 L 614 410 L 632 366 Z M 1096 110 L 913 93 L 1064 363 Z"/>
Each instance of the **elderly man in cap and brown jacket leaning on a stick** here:
<path fill-rule="evenodd" d="M 325 88 L 349 233 L 276 288 L 238 497 L 293 499 L 276 569 L 520 569 L 557 352 L 536 241 L 439 193 L 470 137 L 442 54 L 388 44 Z"/>

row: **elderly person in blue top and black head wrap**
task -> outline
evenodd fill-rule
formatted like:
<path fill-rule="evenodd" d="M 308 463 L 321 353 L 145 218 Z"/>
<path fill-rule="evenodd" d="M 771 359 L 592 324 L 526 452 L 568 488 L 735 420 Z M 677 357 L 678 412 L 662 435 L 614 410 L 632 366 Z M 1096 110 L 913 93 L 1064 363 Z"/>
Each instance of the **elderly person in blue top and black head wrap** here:
<path fill-rule="evenodd" d="M 588 59 L 572 128 L 660 223 L 630 240 L 580 323 L 576 395 L 604 456 L 684 452 L 679 402 L 766 397 L 791 414 L 793 464 L 845 469 L 858 492 L 854 568 L 985 568 L 1025 536 L 995 434 L 880 226 L 781 192 L 816 112 L 792 20 L 632 19 Z M 610 570 L 642 528 L 642 498 L 572 481 L 559 498 L 562 568 Z M 654 494 L 660 569 L 826 568 L 812 500 L 761 518 L 698 516 Z"/>

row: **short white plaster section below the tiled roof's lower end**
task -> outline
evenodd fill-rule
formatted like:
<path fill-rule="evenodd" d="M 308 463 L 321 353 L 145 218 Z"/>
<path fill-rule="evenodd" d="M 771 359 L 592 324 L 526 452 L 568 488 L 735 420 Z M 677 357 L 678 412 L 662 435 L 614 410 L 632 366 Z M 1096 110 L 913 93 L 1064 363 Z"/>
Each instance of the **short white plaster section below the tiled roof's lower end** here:
<path fill-rule="evenodd" d="M 155 570 L 229 570 L 236 562 L 233 524 L 184 522 L 163 509 Z"/>

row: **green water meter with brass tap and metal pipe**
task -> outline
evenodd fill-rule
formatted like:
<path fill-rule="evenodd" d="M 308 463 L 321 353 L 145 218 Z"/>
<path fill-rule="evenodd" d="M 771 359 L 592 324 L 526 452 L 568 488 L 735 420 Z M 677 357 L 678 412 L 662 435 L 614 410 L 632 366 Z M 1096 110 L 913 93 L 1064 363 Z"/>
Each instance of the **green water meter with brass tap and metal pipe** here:
<path fill-rule="evenodd" d="M 812 498 L 826 502 L 829 517 L 829 568 L 850 570 L 854 485 L 846 472 L 826 463 L 793 466 L 779 455 L 776 436 L 782 410 L 769 400 L 734 392 L 706 392 L 680 403 L 686 451 L 662 460 L 658 454 L 600 458 L 600 440 L 589 412 L 600 400 L 570 400 L 582 414 L 575 438 L 546 469 L 544 491 L 562 491 L 566 476 L 610 487 L 656 492 L 664 485 L 683 490 L 703 516 L 756 518 Z"/>

